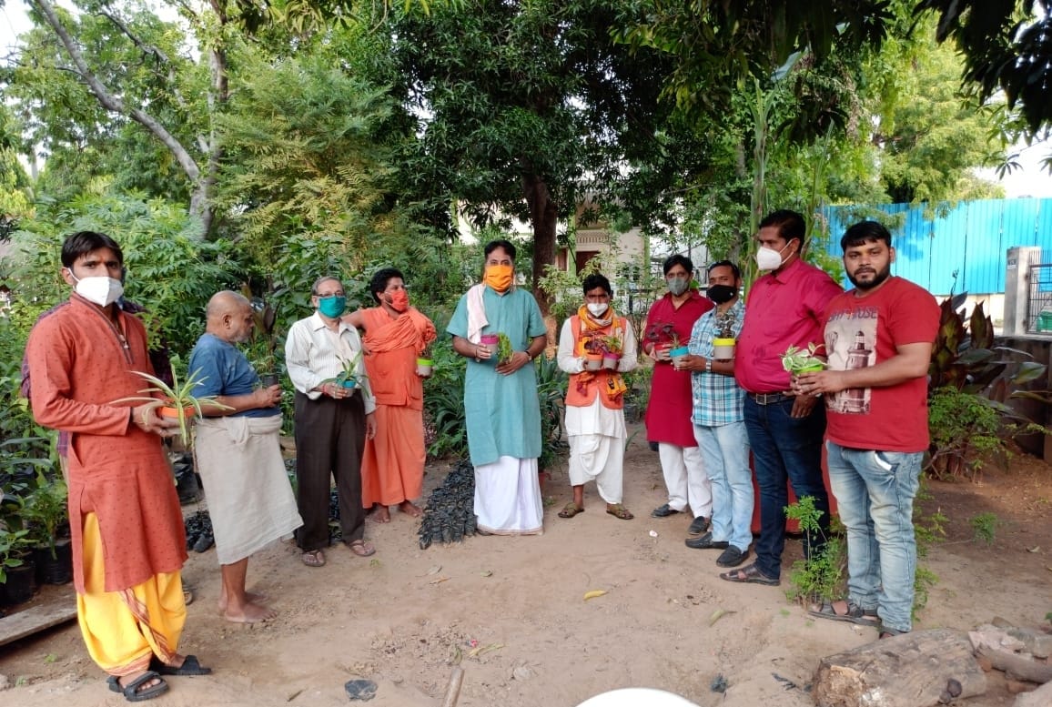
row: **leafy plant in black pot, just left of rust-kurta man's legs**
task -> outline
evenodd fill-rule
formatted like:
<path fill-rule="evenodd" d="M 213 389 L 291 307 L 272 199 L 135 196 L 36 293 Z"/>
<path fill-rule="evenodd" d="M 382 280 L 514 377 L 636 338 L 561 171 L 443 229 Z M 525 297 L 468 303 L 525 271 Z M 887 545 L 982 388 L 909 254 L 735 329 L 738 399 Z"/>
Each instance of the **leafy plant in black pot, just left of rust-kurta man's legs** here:
<path fill-rule="evenodd" d="M 68 536 L 67 489 L 61 478 L 37 474 L 37 487 L 25 499 L 23 518 L 29 523 L 38 584 L 66 584 L 73 579 Z"/>

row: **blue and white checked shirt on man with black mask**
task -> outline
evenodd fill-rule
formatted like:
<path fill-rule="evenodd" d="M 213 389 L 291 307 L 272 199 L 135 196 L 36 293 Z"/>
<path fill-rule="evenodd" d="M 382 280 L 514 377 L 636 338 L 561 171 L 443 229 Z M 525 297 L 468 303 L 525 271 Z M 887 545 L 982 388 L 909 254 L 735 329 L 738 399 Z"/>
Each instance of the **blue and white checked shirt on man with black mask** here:
<path fill-rule="evenodd" d="M 717 309 L 706 311 L 694 322 L 694 328 L 690 331 L 691 355 L 712 358 L 712 340 L 720 336 L 716 326 Z M 734 318 L 731 331 L 736 339 L 745 321 L 745 303 L 741 298 L 727 310 L 727 316 Z M 719 427 L 745 419 L 745 390 L 739 387 L 733 376 L 694 371 L 690 375 L 690 390 L 693 397 L 691 420 L 695 425 Z"/>

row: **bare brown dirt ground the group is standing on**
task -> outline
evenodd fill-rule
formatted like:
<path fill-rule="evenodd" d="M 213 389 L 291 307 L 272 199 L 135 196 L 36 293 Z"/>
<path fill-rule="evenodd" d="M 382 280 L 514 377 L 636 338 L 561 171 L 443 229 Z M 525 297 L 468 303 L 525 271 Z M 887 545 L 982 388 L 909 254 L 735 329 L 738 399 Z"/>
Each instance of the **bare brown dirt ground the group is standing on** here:
<path fill-rule="evenodd" d="M 249 566 L 249 587 L 280 611 L 266 624 L 223 621 L 216 556 L 191 553 L 184 577 L 197 600 L 180 648 L 215 674 L 171 678 L 168 694 L 151 704 L 345 705 L 344 683 L 365 678 L 379 685 L 370 705 L 438 707 L 458 661 L 460 707 L 572 706 L 629 686 L 704 707 L 812 704 L 818 660 L 873 641 L 875 631 L 812 621 L 786 600 L 785 586 L 721 581 L 719 552 L 683 544 L 690 519 L 649 517 L 664 502 L 664 484 L 644 433 L 638 425 L 631 431 L 625 504 L 634 520 L 604 513 L 591 486 L 584 514 L 557 518 L 570 496 L 564 468 L 545 489 L 541 537 L 474 537 L 420 550 L 417 523 L 394 513 L 390 524 L 369 522 L 366 537 L 378 548 L 370 559 L 333 547 L 328 564 L 311 569 L 294 546 L 279 545 Z M 445 471 L 429 467 L 427 487 Z M 926 507 L 949 518 L 948 536 L 925 562 L 939 581 L 915 627 L 967 629 L 994 617 L 1040 624 L 1052 610 L 1049 466 L 1019 458 L 980 484 L 930 490 Z M 990 546 L 974 540 L 970 524 L 984 512 L 997 520 Z M 800 543 L 787 553 L 798 558 Z M 591 589 L 608 593 L 584 601 Z M 987 695 L 958 704 L 1011 705 L 997 674 Z M 124 704 L 107 691 L 75 624 L 0 647 L 0 675 L 13 686 L 0 696 L 5 706 Z M 717 676 L 725 693 L 711 689 Z"/>

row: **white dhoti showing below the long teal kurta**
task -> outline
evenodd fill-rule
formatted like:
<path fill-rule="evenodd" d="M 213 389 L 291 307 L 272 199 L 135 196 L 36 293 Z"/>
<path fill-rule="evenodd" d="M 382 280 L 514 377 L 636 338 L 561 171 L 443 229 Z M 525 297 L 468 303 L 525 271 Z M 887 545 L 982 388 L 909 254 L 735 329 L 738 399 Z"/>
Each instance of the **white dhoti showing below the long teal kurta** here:
<path fill-rule="evenodd" d="M 535 459 L 501 457 L 474 467 L 477 526 L 494 536 L 540 536 L 544 503 Z"/>

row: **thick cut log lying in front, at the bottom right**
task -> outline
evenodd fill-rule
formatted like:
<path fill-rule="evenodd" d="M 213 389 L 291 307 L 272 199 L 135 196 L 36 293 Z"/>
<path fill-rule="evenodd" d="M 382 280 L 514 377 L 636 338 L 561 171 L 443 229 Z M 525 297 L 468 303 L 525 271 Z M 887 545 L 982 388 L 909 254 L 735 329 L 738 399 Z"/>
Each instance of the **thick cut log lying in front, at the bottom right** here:
<path fill-rule="evenodd" d="M 968 634 L 939 628 L 823 659 L 813 693 L 818 707 L 932 707 L 986 690 Z"/>

